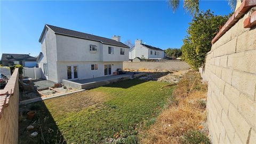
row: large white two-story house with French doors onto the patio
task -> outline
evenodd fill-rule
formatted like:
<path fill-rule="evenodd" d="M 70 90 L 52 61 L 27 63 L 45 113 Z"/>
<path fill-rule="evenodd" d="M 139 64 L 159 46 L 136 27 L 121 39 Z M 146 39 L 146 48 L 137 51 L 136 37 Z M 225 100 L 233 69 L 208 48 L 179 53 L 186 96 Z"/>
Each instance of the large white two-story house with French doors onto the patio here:
<path fill-rule="evenodd" d="M 129 46 L 112 39 L 45 25 L 41 37 L 38 67 L 46 79 L 86 79 L 112 75 L 129 60 Z"/>

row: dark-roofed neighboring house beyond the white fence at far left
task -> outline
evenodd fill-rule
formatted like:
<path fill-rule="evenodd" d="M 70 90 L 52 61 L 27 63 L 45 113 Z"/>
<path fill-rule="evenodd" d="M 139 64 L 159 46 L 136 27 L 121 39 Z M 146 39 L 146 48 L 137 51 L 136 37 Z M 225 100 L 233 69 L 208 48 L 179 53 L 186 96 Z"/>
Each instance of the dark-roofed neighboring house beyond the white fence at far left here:
<path fill-rule="evenodd" d="M 3 53 L 1 58 L 1 65 L 13 66 L 22 65 L 23 67 L 36 67 L 36 58 L 29 54 L 11 54 Z"/>

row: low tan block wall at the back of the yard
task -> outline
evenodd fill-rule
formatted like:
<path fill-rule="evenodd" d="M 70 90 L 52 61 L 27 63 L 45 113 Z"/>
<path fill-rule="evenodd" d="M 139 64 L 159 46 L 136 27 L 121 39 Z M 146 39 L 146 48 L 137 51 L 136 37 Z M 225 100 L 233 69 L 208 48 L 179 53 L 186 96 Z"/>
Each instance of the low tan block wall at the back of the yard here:
<path fill-rule="evenodd" d="M 143 62 L 124 62 L 123 68 L 129 69 L 160 69 L 160 70 L 187 70 L 189 65 L 180 60 L 170 60 L 170 61 L 143 61 Z"/>

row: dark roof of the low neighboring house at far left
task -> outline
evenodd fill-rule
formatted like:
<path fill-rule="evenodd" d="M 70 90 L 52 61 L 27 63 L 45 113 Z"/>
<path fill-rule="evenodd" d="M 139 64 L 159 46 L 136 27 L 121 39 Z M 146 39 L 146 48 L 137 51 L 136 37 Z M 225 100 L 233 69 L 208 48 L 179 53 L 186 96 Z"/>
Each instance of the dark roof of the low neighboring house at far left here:
<path fill-rule="evenodd" d="M 3 53 L 1 60 L 35 60 L 35 57 L 31 57 L 29 54 L 12 54 L 12 53 Z"/>

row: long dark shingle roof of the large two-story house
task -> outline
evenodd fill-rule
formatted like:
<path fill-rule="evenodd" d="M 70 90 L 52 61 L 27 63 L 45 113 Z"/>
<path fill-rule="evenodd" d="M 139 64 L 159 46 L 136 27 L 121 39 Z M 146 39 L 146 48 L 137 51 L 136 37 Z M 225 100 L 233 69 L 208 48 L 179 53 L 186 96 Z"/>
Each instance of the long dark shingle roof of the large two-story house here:
<path fill-rule="evenodd" d="M 109 45 L 115 45 L 115 46 L 130 48 L 129 46 L 127 46 L 127 45 L 125 45 L 121 42 L 117 42 L 114 39 L 95 36 L 95 35 L 91 35 L 91 34 L 86 34 L 86 33 L 82 33 L 82 32 L 79 32 L 79 31 L 70 30 L 70 29 L 61 28 L 61 27 L 56 27 L 56 26 L 51 26 L 51 25 L 47 25 L 47 24 L 46 24 L 46 26 L 49 27 L 50 29 L 52 29 L 55 34 L 66 35 L 66 36 L 71 36 L 71 37 L 78 37 L 78 38 L 83 38 L 83 39 L 89 39 L 89 40 L 92 40 L 92 41 L 101 42 L 103 44 L 109 44 Z"/>

